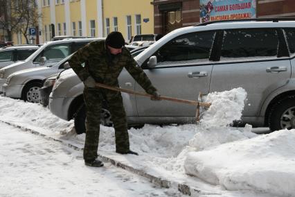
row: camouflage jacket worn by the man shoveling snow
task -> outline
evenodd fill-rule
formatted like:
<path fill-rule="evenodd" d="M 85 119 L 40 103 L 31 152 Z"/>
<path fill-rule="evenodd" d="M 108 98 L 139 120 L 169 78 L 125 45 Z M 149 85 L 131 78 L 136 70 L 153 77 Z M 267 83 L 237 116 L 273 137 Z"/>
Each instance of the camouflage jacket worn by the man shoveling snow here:
<path fill-rule="evenodd" d="M 69 65 L 82 81 L 92 76 L 98 83 L 116 87 L 118 87 L 118 76 L 125 67 L 145 92 L 152 94 L 157 91 L 145 72 L 136 66 L 128 49 L 123 47 L 120 55 L 111 58 L 104 40 L 90 42 L 79 49 L 69 59 Z"/>

